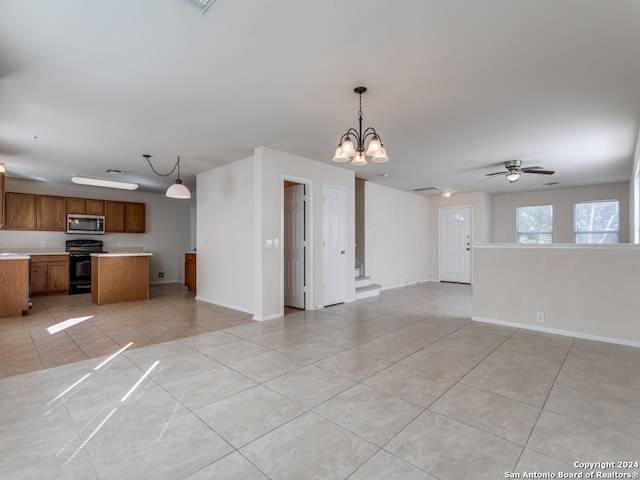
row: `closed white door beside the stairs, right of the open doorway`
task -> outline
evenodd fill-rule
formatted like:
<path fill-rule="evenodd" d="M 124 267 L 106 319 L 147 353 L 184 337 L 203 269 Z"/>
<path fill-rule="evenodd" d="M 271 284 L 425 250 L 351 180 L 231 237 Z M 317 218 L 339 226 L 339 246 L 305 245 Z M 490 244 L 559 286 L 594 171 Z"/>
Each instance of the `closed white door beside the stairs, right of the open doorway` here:
<path fill-rule="evenodd" d="M 322 255 L 324 305 L 345 301 L 347 271 L 346 193 L 343 188 L 322 187 Z"/>

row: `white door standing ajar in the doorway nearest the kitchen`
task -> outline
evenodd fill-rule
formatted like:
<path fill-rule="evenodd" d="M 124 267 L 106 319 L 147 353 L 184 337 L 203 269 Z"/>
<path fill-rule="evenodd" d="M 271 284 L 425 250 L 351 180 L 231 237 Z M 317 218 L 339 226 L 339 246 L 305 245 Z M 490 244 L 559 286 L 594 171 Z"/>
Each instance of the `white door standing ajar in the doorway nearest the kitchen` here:
<path fill-rule="evenodd" d="M 284 304 L 304 308 L 304 185 L 284 189 Z"/>

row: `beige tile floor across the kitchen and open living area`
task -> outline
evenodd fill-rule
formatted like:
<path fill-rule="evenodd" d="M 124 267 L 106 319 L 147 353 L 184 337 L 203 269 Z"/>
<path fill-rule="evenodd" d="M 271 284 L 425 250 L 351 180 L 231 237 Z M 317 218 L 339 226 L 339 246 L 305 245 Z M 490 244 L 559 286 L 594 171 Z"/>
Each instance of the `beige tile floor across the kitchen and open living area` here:
<path fill-rule="evenodd" d="M 469 286 L 261 323 L 178 285 L 126 305 L 81 297 L 2 321 L 2 479 L 640 471 L 574 464 L 640 462 L 640 349 L 472 322 Z"/>

